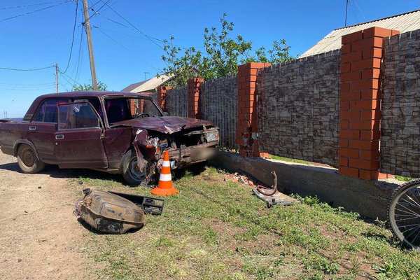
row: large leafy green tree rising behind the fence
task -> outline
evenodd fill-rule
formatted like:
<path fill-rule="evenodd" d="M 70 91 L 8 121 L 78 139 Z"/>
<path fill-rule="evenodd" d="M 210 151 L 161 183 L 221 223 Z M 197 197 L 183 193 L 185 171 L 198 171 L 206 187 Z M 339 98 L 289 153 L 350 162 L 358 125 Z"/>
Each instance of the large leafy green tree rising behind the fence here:
<path fill-rule="evenodd" d="M 204 29 L 202 51 L 195 47 L 181 48 L 175 45 L 173 36 L 165 41 L 162 60 L 166 66 L 162 73 L 174 74 L 174 85 L 185 85 L 188 78 L 197 76 L 209 80 L 236 75 L 237 65 L 246 62 L 278 64 L 293 59 L 284 39 L 274 41 L 269 50 L 262 46 L 253 52 L 251 41 L 246 41 L 240 34 L 231 36 L 235 25 L 226 17 L 224 13 L 220 19 L 220 31 L 216 27 Z"/>

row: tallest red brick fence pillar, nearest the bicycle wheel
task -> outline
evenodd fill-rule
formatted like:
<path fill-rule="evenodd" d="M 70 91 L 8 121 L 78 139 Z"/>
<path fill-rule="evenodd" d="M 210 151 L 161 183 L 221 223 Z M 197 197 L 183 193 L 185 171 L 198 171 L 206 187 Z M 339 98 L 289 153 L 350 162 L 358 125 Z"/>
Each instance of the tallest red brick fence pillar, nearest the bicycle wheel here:
<path fill-rule="evenodd" d="M 339 174 L 372 180 L 379 173 L 383 38 L 398 31 L 372 27 L 342 36 Z"/>

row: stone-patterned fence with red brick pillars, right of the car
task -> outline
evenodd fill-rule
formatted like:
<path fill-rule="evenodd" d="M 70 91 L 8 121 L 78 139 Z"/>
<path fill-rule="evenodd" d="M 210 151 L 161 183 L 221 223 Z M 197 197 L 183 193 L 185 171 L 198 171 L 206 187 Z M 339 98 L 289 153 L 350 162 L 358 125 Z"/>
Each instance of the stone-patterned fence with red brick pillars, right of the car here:
<path fill-rule="evenodd" d="M 168 90 L 166 108 L 188 116 L 195 106 L 244 156 L 320 162 L 360 179 L 420 177 L 419 62 L 420 30 L 371 27 L 342 36 L 339 50 Z"/>

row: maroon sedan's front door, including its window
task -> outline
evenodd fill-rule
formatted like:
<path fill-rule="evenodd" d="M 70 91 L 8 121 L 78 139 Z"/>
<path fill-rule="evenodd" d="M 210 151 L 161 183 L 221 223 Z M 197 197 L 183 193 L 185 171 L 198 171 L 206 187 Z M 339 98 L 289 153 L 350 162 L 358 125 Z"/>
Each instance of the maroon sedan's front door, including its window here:
<path fill-rule="evenodd" d="M 55 157 L 62 168 L 105 169 L 104 126 L 88 102 L 58 105 Z"/>

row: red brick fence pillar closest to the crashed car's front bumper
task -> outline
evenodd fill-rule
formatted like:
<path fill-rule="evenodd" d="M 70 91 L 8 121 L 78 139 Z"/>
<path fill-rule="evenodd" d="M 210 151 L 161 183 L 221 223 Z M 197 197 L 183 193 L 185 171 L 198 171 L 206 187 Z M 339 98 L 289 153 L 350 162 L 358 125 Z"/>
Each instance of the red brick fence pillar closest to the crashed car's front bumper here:
<path fill-rule="evenodd" d="M 258 146 L 258 111 L 257 111 L 257 73 L 258 69 L 270 66 L 269 63 L 250 62 L 238 66 L 238 119 L 236 144 L 239 155 L 260 157 Z"/>

